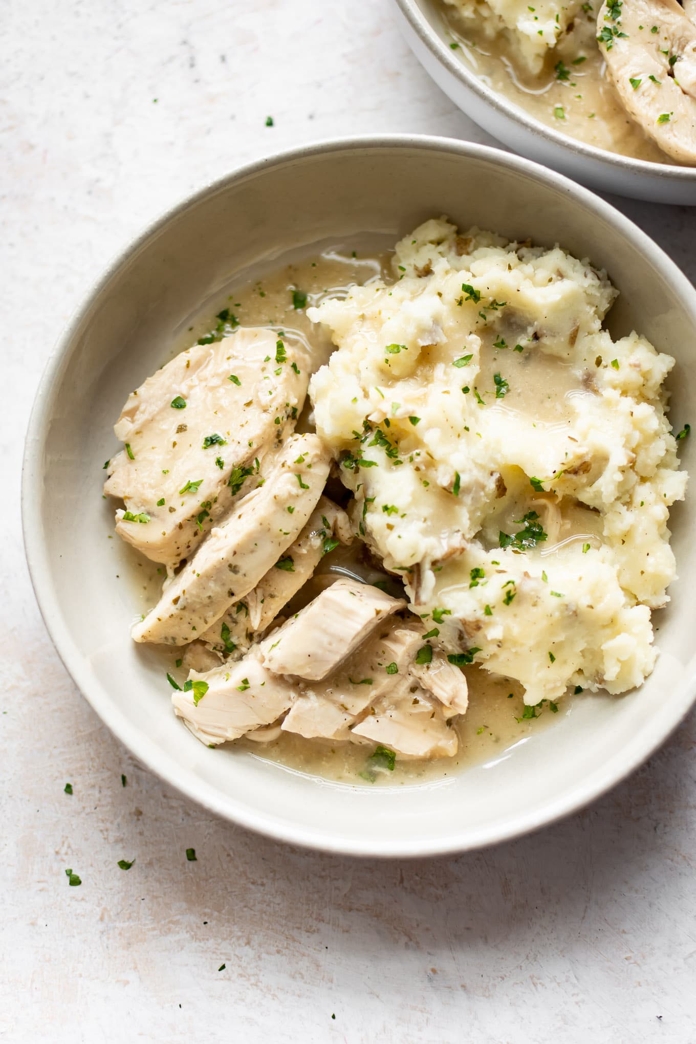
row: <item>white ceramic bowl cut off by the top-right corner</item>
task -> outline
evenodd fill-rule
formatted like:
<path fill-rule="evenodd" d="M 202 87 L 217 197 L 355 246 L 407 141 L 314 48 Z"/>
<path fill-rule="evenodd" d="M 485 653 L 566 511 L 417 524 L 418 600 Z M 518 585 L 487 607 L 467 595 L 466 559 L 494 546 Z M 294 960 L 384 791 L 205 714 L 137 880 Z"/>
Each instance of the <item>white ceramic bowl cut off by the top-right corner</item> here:
<path fill-rule="evenodd" d="M 696 167 L 649 163 L 585 145 L 487 87 L 450 47 L 434 0 L 393 0 L 413 53 L 437 86 L 480 127 L 521 156 L 583 185 L 653 203 L 696 205 Z"/>

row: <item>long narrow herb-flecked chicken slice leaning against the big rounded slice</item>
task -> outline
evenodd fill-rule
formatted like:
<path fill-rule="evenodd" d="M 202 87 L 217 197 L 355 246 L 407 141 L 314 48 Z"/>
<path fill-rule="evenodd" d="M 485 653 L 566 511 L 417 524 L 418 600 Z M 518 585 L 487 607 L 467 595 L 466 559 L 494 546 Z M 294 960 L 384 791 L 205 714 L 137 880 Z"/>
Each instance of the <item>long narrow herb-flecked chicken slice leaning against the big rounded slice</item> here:
<path fill-rule="evenodd" d="M 305 527 L 329 475 L 317 435 L 291 435 L 262 487 L 243 497 L 133 628 L 137 642 L 184 645 L 251 591 Z M 289 512 L 288 508 L 292 508 Z"/>

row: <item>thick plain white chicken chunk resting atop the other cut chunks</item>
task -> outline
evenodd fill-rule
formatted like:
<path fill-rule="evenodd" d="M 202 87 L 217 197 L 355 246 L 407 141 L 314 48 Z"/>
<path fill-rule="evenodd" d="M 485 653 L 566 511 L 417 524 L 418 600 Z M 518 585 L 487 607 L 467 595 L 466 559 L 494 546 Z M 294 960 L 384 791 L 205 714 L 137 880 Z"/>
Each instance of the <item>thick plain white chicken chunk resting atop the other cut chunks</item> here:
<path fill-rule="evenodd" d="M 261 642 L 263 662 L 278 674 L 326 678 L 385 616 L 405 604 L 369 584 L 336 580 Z"/>

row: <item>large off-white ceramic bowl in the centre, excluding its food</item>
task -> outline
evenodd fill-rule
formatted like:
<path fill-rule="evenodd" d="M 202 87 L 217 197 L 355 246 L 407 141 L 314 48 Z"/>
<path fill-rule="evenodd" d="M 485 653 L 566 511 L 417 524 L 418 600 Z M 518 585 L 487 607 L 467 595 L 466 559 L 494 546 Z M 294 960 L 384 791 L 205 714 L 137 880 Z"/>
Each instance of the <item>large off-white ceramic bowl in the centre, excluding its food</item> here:
<path fill-rule="evenodd" d="M 653 675 L 621 698 L 587 696 L 552 728 L 438 783 L 326 783 L 249 754 L 209 750 L 174 718 L 157 655 L 129 639 L 133 586 L 101 498 L 112 424 L 128 392 L 171 352 L 231 280 L 298 247 L 359 232 L 393 242 L 449 214 L 512 238 L 556 241 L 608 269 L 631 327 L 677 356 L 676 424 L 696 420 L 696 291 L 635 226 L 565 177 L 479 145 L 391 137 L 329 142 L 256 163 L 155 221 L 97 283 L 56 347 L 27 434 L 23 520 L 31 576 L 63 661 L 109 728 L 145 765 L 207 808 L 274 837 L 336 852 L 422 856 L 514 837 L 579 808 L 639 765 L 696 691 L 696 551 L 690 502 L 674 512 L 680 579 L 657 618 Z M 691 447 L 686 450 L 689 465 Z M 116 578 L 116 573 L 120 578 Z M 76 739 L 76 742 L 79 740 Z"/>

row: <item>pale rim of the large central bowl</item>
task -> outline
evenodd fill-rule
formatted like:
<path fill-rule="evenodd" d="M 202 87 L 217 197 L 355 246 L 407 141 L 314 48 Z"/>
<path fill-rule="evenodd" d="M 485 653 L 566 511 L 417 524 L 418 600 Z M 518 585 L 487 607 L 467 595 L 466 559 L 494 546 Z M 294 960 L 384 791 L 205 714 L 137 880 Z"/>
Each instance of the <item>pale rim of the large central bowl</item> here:
<path fill-rule="evenodd" d="M 553 796 L 534 812 L 515 810 L 502 823 L 498 821 L 491 829 L 488 825 L 476 828 L 454 828 L 447 835 L 426 843 L 405 838 L 401 844 L 390 844 L 389 851 L 380 849 L 375 840 L 346 838 L 340 832 L 321 832 L 319 827 L 296 827 L 280 815 L 266 814 L 247 805 L 243 798 L 222 794 L 217 787 L 201 780 L 188 768 L 183 768 L 173 756 L 142 732 L 137 723 L 128 720 L 124 712 L 114 702 L 109 690 L 90 677 L 88 664 L 75 646 L 70 631 L 63 619 L 57 592 L 48 579 L 48 555 L 43 539 L 43 527 L 33 505 L 41 499 L 43 483 L 43 447 L 50 425 L 50 392 L 55 386 L 64 357 L 73 348 L 73 340 L 90 311 L 98 302 L 111 281 L 125 267 L 133 257 L 168 222 L 206 198 L 213 196 L 238 182 L 254 177 L 269 168 L 312 160 L 316 157 L 340 155 L 344 151 L 389 151 L 392 149 L 422 149 L 445 152 L 462 160 L 483 160 L 487 163 L 507 167 L 510 171 L 531 177 L 549 189 L 562 189 L 575 197 L 591 213 L 610 223 L 629 242 L 643 253 L 649 252 L 652 263 L 675 286 L 675 292 L 683 300 L 687 311 L 691 310 L 696 327 L 696 288 L 679 270 L 677 265 L 649 236 L 625 217 L 610 204 L 605 203 L 589 189 L 571 179 L 549 170 L 539 164 L 522 159 L 510 152 L 462 142 L 454 139 L 427 135 L 369 135 L 325 139 L 310 145 L 282 150 L 254 160 L 219 179 L 187 194 L 179 203 L 167 208 L 155 217 L 131 241 L 126 243 L 113 258 L 101 276 L 94 281 L 82 302 L 73 312 L 55 346 L 51 350 L 44 372 L 39 381 L 31 414 L 26 432 L 22 467 L 22 529 L 29 575 L 39 609 L 49 637 L 55 646 L 66 670 L 92 706 L 98 717 L 110 731 L 149 770 L 183 796 L 195 801 L 205 809 L 220 817 L 249 830 L 302 848 L 332 854 L 370 858 L 419 858 L 426 856 L 452 855 L 459 852 L 479 850 L 502 841 L 512 840 L 524 834 L 538 830 L 578 811 L 592 801 L 616 786 L 641 765 L 679 725 L 696 699 L 696 677 L 689 678 L 673 694 L 669 707 L 659 706 L 657 721 L 649 720 L 639 730 L 632 740 L 622 749 L 617 759 L 607 761 L 594 776 L 581 785 L 576 785 L 562 797 Z"/>

